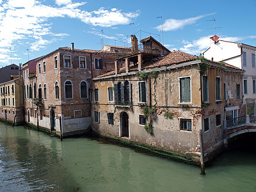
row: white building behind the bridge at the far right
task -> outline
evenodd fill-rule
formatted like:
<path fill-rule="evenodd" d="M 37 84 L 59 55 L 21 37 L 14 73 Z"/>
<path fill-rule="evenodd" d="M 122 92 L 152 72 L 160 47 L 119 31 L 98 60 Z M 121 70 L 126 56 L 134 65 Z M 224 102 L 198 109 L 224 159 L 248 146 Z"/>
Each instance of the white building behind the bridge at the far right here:
<path fill-rule="evenodd" d="M 245 109 L 248 115 L 251 115 L 252 113 L 255 115 L 256 47 L 218 40 L 218 36 L 212 37 L 210 44 L 211 46 L 209 49 L 204 52 L 204 57 L 207 58 L 207 60 L 213 59 L 213 61 L 223 61 L 244 70 L 243 78 L 241 79 L 243 104 L 246 106 Z M 237 91 L 237 95 L 234 95 L 234 97 L 239 97 L 240 95 L 241 93 Z"/>

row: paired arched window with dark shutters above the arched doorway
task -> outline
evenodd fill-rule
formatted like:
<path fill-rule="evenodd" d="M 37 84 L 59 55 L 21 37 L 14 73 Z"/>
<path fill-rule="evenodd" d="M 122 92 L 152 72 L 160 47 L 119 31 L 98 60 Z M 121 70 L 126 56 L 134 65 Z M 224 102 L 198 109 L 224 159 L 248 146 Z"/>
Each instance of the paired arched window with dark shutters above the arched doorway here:
<path fill-rule="evenodd" d="M 115 103 L 117 105 L 131 104 L 132 102 L 132 84 L 125 81 L 124 84 L 118 82 L 115 84 Z"/>

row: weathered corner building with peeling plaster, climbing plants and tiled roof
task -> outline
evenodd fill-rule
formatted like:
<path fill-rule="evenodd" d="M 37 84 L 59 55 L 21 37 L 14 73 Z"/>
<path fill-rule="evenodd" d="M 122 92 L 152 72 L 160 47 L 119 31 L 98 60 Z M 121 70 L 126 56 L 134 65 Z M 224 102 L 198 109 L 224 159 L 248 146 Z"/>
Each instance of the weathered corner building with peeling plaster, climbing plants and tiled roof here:
<path fill-rule="evenodd" d="M 167 51 L 152 38 L 143 47 L 93 79 L 92 129 L 195 159 L 204 143 L 207 161 L 223 145 L 225 111 L 241 115 L 242 70 Z"/>

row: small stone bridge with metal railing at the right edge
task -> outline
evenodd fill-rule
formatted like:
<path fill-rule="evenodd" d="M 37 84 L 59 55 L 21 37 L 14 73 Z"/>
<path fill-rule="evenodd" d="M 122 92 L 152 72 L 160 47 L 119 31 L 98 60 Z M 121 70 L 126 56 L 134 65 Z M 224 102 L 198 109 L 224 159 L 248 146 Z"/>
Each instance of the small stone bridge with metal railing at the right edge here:
<path fill-rule="evenodd" d="M 224 120 L 223 142 L 227 145 L 228 140 L 240 134 L 256 132 L 256 116 L 246 115 Z"/>

